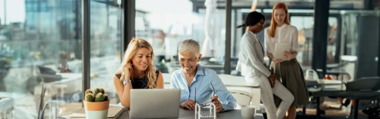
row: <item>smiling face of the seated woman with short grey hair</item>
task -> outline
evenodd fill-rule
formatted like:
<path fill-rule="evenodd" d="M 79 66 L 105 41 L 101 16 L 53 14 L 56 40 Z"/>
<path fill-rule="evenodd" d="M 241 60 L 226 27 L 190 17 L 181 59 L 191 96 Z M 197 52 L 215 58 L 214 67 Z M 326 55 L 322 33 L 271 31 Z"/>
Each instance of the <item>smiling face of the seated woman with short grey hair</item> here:
<path fill-rule="evenodd" d="M 182 69 L 185 71 L 185 74 L 196 74 L 196 65 L 200 58 L 202 57 L 199 54 L 198 58 L 195 56 L 195 53 L 192 52 L 182 52 L 179 53 L 179 59 Z"/>

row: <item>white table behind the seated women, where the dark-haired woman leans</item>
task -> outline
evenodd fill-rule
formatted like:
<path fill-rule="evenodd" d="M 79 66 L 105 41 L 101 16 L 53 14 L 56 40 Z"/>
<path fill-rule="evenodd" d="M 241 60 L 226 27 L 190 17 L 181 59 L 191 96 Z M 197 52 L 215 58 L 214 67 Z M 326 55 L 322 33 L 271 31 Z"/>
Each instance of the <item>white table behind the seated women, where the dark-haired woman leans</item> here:
<path fill-rule="evenodd" d="M 162 73 L 165 88 L 170 88 L 170 78 L 172 74 Z M 244 77 L 220 74 L 218 75 L 228 90 L 241 90 L 252 95 L 251 104 L 260 107 L 260 88 L 258 84 L 249 84 Z M 259 108 L 257 108 L 259 110 Z"/>

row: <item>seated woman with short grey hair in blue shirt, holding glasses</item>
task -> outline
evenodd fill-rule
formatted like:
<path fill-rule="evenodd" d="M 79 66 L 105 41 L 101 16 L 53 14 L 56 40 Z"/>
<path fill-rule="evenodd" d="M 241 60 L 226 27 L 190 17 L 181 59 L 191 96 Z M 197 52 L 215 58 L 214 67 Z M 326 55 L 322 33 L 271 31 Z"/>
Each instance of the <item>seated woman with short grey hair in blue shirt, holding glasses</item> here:
<path fill-rule="evenodd" d="M 170 88 L 181 89 L 181 108 L 194 110 L 195 103 L 200 107 L 213 103 L 217 112 L 235 109 L 236 99 L 216 72 L 198 64 L 202 55 L 197 41 L 182 41 L 178 54 L 182 69 L 173 72 Z"/>

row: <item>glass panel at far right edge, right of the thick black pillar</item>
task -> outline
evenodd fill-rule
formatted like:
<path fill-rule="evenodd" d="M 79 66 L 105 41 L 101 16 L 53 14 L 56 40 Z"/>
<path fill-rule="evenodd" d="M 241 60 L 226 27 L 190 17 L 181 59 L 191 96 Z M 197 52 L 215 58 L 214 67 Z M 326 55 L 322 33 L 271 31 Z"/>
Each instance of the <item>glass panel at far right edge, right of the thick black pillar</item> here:
<path fill-rule="evenodd" d="M 379 74 L 380 10 L 342 10 L 340 60 L 351 79 Z M 358 65 L 360 64 L 360 65 Z"/>

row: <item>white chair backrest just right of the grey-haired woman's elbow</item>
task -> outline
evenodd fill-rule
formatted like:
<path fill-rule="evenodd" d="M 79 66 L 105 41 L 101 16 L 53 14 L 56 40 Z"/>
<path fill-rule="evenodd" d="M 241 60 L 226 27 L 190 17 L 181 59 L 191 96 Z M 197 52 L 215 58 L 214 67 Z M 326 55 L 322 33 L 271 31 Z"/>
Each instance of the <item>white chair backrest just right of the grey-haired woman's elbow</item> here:
<path fill-rule="evenodd" d="M 252 99 L 252 94 L 241 90 L 229 90 L 232 96 L 235 97 L 239 105 L 249 105 Z"/>

